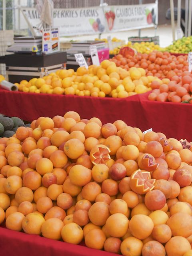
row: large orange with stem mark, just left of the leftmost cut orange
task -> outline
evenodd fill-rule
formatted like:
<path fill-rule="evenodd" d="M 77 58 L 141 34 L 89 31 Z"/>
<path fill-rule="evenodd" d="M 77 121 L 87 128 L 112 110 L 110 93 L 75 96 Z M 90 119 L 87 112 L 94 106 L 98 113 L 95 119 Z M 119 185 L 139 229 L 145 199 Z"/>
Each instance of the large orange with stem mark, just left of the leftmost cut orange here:
<path fill-rule="evenodd" d="M 64 145 L 64 152 L 71 159 L 81 156 L 84 150 L 84 144 L 78 139 L 70 139 Z"/>

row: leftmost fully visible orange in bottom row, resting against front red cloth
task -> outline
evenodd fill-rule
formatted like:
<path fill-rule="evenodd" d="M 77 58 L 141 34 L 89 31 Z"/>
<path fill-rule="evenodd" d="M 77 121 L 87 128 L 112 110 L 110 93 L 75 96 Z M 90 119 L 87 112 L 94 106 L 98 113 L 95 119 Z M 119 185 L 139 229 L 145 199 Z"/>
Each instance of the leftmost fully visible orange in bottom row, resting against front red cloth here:
<path fill-rule="evenodd" d="M 13 212 L 6 219 L 6 228 L 10 230 L 21 231 L 22 230 L 22 221 L 25 216 L 21 212 Z"/>

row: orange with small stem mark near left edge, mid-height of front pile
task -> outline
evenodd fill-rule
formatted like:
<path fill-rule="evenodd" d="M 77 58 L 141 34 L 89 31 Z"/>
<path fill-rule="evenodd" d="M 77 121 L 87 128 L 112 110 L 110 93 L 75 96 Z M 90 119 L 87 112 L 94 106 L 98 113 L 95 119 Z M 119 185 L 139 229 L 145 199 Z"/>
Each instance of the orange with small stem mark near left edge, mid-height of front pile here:
<path fill-rule="evenodd" d="M 9 194 L 15 194 L 22 186 L 22 178 L 16 175 L 9 176 L 4 183 L 4 189 Z"/>

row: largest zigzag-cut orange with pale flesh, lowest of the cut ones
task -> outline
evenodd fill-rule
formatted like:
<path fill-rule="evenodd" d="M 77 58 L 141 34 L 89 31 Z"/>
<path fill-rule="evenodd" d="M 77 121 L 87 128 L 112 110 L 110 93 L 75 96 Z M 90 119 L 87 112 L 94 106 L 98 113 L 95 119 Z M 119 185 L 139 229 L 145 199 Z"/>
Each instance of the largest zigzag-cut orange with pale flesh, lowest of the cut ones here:
<path fill-rule="evenodd" d="M 130 188 L 137 194 L 143 195 L 154 189 L 156 179 L 150 178 L 150 172 L 141 171 L 140 169 L 132 173 L 130 177 Z"/>

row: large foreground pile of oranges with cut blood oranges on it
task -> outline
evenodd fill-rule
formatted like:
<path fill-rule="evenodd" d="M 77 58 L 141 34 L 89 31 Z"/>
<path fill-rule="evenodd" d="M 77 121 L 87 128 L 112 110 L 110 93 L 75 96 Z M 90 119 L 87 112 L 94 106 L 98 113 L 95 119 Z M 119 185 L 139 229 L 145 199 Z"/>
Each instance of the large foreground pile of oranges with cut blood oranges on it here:
<path fill-rule="evenodd" d="M 40 117 L 0 138 L 0 223 L 124 256 L 192 255 L 192 148 L 122 120 Z"/>

